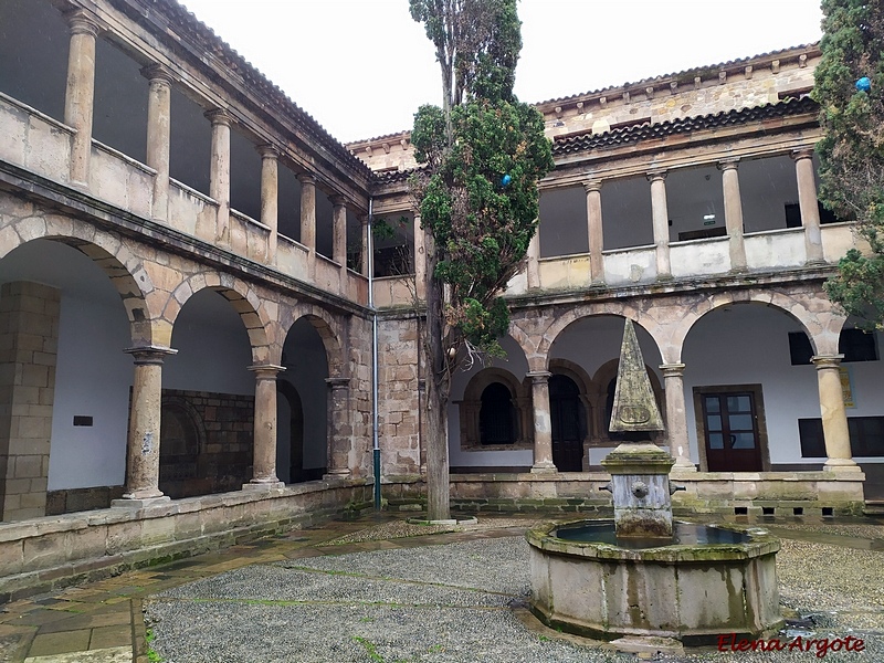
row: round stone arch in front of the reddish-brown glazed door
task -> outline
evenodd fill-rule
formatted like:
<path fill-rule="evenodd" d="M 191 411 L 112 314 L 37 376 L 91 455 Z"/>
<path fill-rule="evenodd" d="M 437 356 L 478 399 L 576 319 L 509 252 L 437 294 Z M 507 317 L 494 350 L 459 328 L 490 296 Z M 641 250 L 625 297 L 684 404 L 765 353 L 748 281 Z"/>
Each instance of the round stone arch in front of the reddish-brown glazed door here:
<path fill-rule="evenodd" d="M 815 355 L 836 355 L 839 336 L 848 318 L 838 313 L 832 304 L 829 311 L 815 311 L 820 299 L 828 302 L 822 293 L 815 296 L 811 293 L 786 294 L 774 290 L 717 293 L 685 311 L 685 315 L 671 329 L 666 348 L 669 352 L 661 351 L 661 356 L 664 362 L 680 364 L 685 340 L 703 316 L 725 306 L 744 303 L 778 308 L 799 324 L 810 339 Z"/>

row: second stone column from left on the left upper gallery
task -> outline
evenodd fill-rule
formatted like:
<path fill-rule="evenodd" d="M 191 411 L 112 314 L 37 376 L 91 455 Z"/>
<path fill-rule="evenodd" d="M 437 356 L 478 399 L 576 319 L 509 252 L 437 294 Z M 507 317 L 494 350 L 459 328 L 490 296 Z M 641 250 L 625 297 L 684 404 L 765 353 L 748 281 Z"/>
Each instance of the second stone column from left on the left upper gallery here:
<path fill-rule="evenodd" d="M 154 178 L 151 215 L 166 221 L 169 214 L 169 150 L 171 145 L 172 75 L 161 64 L 141 70 L 148 80 L 147 95 L 147 165 L 157 171 Z"/>

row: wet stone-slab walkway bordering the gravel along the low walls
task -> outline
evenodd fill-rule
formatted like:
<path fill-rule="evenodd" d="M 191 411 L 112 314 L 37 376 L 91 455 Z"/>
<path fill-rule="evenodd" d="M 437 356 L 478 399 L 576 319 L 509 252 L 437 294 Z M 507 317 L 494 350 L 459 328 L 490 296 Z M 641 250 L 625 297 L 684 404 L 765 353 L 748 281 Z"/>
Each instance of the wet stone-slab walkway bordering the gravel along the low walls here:
<path fill-rule="evenodd" d="M 365 550 L 411 548 L 480 538 L 520 536 L 534 522 L 483 518 L 481 528 L 407 538 L 371 538 L 360 533 L 402 534 L 393 516 L 364 517 L 357 522 L 333 520 L 308 529 L 260 539 L 222 551 L 129 571 L 115 578 L 83 583 L 65 590 L 0 606 L 0 661 L 25 663 L 148 663 L 143 599 L 166 589 L 255 564 L 341 555 Z M 766 523 L 777 536 L 817 540 L 845 549 L 884 550 L 881 522 L 857 522 L 855 527 L 802 523 Z M 779 526 L 778 526 L 779 525 Z M 343 543 L 329 546 L 329 541 Z M 324 545 L 325 544 L 325 545 Z"/>

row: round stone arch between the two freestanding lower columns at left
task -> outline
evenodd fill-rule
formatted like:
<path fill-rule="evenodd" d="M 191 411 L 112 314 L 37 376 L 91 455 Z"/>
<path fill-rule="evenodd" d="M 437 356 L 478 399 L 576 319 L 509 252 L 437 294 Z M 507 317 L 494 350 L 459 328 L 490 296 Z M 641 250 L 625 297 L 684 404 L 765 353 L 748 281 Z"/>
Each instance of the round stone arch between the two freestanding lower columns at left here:
<path fill-rule="evenodd" d="M 203 290 L 211 290 L 224 297 L 245 326 L 249 345 L 252 348 L 252 361 L 255 365 L 272 364 L 273 354 L 267 338 L 267 320 L 262 319 L 261 298 L 243 281 L 227 274 L 201 273 L 185 280 L 169 295 L 168 304 L 162 312 L 164 322 L 171 329 L 181 308 L 190 297 Z"/>

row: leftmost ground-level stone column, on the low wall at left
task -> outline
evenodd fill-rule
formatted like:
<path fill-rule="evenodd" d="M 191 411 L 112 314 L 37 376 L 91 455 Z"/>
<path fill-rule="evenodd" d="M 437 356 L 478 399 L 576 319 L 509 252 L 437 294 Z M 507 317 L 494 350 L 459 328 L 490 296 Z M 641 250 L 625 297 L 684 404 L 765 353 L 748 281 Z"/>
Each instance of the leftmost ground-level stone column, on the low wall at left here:
<path fill-rule="evenodd" d="M 126 493 L 114 506 L 140 507 L 168 499 L 159 490 L 159 431 L 162 409 L 162 359 L 177 352 L 145 346 L 124 350 L 135 359 L 129 414 Z"/>

